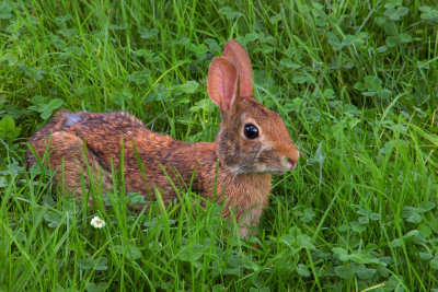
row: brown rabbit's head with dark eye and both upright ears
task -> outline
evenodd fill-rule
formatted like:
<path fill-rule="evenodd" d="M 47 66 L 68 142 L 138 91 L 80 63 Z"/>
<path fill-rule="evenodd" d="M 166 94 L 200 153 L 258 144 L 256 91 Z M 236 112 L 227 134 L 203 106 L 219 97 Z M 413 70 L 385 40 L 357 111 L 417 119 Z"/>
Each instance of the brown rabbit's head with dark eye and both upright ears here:
<path fill-rule="evenodd" d="M 238 42 L 229 40 L 222 57 L 211 60 L 207 89 L 221 112 L 217 152 L 224 168 L 280 174 L 297 165 L 300 152 L 284 121 L 254 98 L 250 57 Z"/>

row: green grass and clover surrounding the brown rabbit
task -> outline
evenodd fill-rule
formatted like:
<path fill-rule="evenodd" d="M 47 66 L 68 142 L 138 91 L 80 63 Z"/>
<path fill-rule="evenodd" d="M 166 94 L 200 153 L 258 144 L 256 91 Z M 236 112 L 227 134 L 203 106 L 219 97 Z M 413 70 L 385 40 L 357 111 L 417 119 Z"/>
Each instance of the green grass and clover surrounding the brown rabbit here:
<path fill-rule="evenodd" d="M 0 291 L 436 291 L 437 22 L 419 0 L 1 1 Z M 301 151 L 257 236 L 191 191 L 136 214 L 96 186 L 91 210 L 25 171 L 60 108 L 212 141 L 206 74 L 229 38 Z"/>

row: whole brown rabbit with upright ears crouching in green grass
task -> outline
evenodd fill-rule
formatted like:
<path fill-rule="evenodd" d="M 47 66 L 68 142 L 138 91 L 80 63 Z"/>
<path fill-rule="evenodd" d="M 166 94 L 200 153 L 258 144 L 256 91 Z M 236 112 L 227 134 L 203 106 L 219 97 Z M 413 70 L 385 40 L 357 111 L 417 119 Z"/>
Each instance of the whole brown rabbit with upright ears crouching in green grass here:
<path fill-rule="evenodd" d="M 192 182 L 192 188 L 207 198 L 216 190 L 223 195 L 223 215 L 229 218 L 232 208 L 239 232 L 246 237 L 268 202 L 270 174 L 292 170 L 299 151 L 281 118 L 254 98 L 250 58 L 238 42 L 229 40 L 223 56 L 212 59 L 207 89 L 222 118 L 215 142 L 173 140 L 149 130 L 127 113 L 59 112 L 30 143 L 39 159 L 48 149 L 48 164 L 57 171 L 57 183 L 65 182 L 78 195 L 82 192 L 82 176 L 89 180 L 87 162 L 94 179 L 101 175 L 103 187 L 112 188 L 108 174 L 112 163 L 117 170 L 124 147 L 127 191 L 153 196 L 157 187 L 164 202 L 170 202 L 177 196 L 168 176 L 186 185 Z M 27 167 L 35 163 L 28 151 Z"/>

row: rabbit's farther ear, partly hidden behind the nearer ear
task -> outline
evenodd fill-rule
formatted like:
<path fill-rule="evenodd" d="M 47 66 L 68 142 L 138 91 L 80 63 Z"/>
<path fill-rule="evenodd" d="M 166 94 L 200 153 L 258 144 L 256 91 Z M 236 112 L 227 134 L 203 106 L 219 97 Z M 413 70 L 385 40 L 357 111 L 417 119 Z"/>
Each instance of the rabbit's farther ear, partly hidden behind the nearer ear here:
<path fill-rule="evenodd" d="M 223 48 L 222 57 L 231 60 L 231 62 L 238 68 L 240 78 L 240 97 L 253 97 L 253 69 L 246 50 L 238 42 L 230 39 Z"/>

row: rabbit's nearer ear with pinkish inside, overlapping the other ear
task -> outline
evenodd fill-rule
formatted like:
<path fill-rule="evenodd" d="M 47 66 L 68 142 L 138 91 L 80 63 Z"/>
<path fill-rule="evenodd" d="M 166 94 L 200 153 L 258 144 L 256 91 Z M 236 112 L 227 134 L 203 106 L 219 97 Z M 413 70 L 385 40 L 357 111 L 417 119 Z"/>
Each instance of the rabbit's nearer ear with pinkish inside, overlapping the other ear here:
<path fill-rule="evenodd" d="M 216 57 L 208 68 L 207 91 L 211 101 L 222 114 L 230 110 L 235 98 L 239 98 L 239 73 L 228 59 Z"/>

